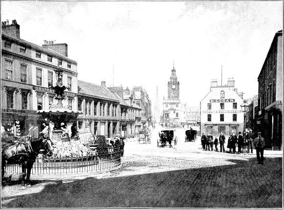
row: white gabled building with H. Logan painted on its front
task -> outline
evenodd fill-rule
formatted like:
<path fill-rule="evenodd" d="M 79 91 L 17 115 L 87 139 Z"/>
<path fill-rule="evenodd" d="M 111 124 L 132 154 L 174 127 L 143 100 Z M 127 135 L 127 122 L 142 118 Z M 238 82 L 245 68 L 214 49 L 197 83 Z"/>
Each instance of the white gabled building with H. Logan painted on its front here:
<path fill-rule="evenodd" d="M 229 135 L 232 131 L 243 131 L 242 97 L 233 78 L 223 86 L 212 80 L 210 92 L 200 102 L 201 133 L 218 135 L 222 131 Z"/>

